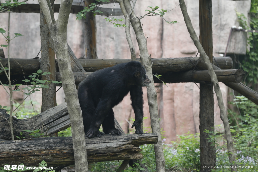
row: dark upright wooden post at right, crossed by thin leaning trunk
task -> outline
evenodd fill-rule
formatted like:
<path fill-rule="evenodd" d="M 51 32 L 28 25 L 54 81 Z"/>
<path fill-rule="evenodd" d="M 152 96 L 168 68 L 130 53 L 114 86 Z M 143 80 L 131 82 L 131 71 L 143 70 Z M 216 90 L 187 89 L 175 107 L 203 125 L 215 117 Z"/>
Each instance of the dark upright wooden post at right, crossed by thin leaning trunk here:
<path fill-rule="evenodd" d="M 212 48 L 212 0 L 199 0 L 199 26 L 200 43 L 208 55 L 209 60 L 213 62 Z M 207 133 L 204 130 L 214 132 L 214 98 L 212 83 L 200 84 L 200 163 L 202 165 L 215 165 L 216 152 L 211 142 L 208 142 Z M 201 168 L 202 172 L 211 171 Z"/>

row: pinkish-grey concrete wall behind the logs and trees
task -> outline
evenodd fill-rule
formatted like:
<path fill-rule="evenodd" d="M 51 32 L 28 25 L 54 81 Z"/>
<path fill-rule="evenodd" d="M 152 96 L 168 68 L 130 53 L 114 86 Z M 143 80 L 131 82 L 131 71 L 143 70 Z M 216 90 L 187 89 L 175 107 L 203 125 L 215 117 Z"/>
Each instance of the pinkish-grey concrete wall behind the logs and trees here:
<path fill-rule="evenodd" d="M 36 3 L 29 0 L 28 2 Z M 212 1 L 213 8 L 213 55 L 218 56 L 219 53 L 225 51 L 229 31 L 232 25 L 239 26 L 237 21 L 236 11 L 244 13 L 248 16 L 251 0 L 249 1 Z M 183 15 L 177 1 L 168 0 L 142 0 L 137 1 L 135 13 L 138 16 L 144 15 L 144 10 L 147 6 L 159 6 L 162 9 L 172 11 L 165 16 L 167 21 L 178 21 L 174 25 L 167 24 L 160 17 L 151 16 L 141 20 L 143 31 L 147 39 L 147 46 L 151 58 L 178 58 L 195 56 L 197 49 L 190 38 L 186 25 L 183 20 Z M 199 3 L 198 0 L 186 0 L 188 14 L 192 20 L 193 27 L 199 35 Z M 107 4 L 106 7 L 113 7 L 114 4 Z M 104 7 L 104 6 L 103 6 Z M 119 8 L 115 4 L 115 8 Z M 236 11 L 235 11 L 236 10 Z M 58 14 L 55 14 L 58 15 Z M 1 24 L 7 26 L 7 13 L 1 14 Z M 115 18 L 123 18 L 122 16 L 114 16 Z M 71 46 L 77 58 L 82 57 L 84 53 L 84 38 L 82 21 L 75 21 L 75 14 L 70 14 L 68 22 L 67 42 Z M 106 17 L 96 15 L 97 21 L 97 55 L 99 59 L 130 59 L 130 50 L 126 41 L 125 29 L 115 28 L 111 23 L 106 23 Z M 110 16 L 109 16 L 110 18 Z M 21 33 L 22 37 L 15 38 L 11 42 L 10 55 L 13 58 L 33 58 L 40 50 L 39 37 L 39 14 L 35 13 L 19 13 L 11 14 L 11 32 Z M 131 27 L 131 35 L 136 48 L 136 57 L 139 57 L 138 45 L 135 39 L 134 31 Z M 0 36 L 0 43 L 4 44 L 3 37 Z M 244 43 L 239 43 L 244 45 Z M 4 49 L 7 57 L 7 51 Z M 39 54 L 40 56 L 40 54 Z M 197 84 L 198 85 L 198 84 Z M 158 93 L 158 111 L 160 127 L 165 131 L 166 142 L 175 141 L 176 135 L 185 134 L 187 132 L 199 132 L 199 88 L 195 83 L 176 83 L 168 84 L 168 87 L 162 87 L 157 84 Z M 227 87 L 220 83 L 221 91 L 225 106 L 227 105 Z M 146 88 L 144 90 L 144 127 L 150 131 L 150 117 L 148 110 Z M 8 96 L 4 90 L 0 88 L 1 105 L 8 105 Z M 19 98 L 20 95 L 16 97 Z M 17 98 L 17 99 L 18 99 Z M 41 103 L 41 95 L 35 94 L 34 100 Z M 62 89 L 58 92 L 58 104 L 64 101 Z M 221 125 L 220 111 L 217 106 L 217 100 L 214 93 L 215 108 L 214 118 L 215 125 Z M 131 108 L 130 96 L 127 95 L 122 103 L 114 108 L 116 119 L 121 124 L 124 131 L 127 133 L 128 121 L 132 124 L 130 118 L 134 118 L 134 113 Z M 131 131 L 133 132 L 133 131 Z"/>

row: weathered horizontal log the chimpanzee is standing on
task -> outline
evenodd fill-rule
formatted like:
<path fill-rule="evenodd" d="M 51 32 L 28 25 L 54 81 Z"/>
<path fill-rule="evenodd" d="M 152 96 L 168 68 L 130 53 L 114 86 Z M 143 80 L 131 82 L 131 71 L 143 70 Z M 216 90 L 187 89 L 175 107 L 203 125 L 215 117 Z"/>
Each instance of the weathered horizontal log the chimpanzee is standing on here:
<path fill-rule="evenodd" d="M 88 162 L 141 159 L 139 145 L 156 144 L 156 133 L 105 135 L 101 138 L 85 137 Z M 46 161 L 48 166 L 73 165 L 72 137 L 44 137 L 26 140 L 0 141 L 0 166 L 20 164 L 38 166 Z"/>

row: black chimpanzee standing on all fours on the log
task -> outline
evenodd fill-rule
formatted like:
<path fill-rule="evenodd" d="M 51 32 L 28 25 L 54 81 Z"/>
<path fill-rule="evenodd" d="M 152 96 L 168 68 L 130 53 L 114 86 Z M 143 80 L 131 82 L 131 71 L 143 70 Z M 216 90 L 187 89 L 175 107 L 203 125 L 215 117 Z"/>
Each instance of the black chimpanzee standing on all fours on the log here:
<path fill-rule="evenodd" d="M 135 114 L 136 134 L 143 134 L 142 87 L 150 83 L 146 70 L 138 61 L 130 61 L 93 72 L 78 87 L 78 97 L 83 115 L 84 132 L 88 138 L 105 134 L 122 135 L 115 128 L 113 107 L 130 92 Z M 102 124 L 103 132 L 100 132 Z"/>

